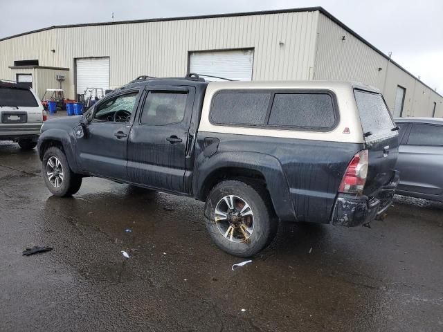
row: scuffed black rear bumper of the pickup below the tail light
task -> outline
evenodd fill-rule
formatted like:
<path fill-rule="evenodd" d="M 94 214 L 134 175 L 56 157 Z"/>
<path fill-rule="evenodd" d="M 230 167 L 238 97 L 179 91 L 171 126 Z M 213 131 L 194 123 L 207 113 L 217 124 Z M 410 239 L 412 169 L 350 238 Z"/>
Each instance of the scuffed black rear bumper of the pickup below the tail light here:
<path fill-rule="evenodd" d="M 338 194 L 332 212 L 332 225 L 352 227 L 370 223 L 377 215 L 388 210 L 398 183 L 399 172 L 395 171 L 390 183 L 381 187 L 372 198 Z"/>

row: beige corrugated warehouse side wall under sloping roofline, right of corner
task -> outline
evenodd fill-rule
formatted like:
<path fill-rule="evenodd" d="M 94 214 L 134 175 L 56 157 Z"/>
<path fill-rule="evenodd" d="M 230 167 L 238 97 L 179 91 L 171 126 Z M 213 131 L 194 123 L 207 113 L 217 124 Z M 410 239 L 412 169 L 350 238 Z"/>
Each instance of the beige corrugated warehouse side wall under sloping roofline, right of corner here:
<path fill-rule="evenodd" d="M 400 85 L 406 89 L 403 116 L 432 116 L 436 102 L 435 116 L 443 117 L 440 95 L 323 14 L 318 17 L 317 38 L 315 80 L 354 80 L 377 86 L 391 110 Z"/>

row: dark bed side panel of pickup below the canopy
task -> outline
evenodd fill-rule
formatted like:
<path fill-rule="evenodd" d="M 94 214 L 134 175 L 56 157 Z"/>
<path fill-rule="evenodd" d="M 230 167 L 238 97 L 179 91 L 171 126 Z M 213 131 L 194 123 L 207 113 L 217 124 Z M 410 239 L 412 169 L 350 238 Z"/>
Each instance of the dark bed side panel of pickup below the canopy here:
<path fill-rule="evenodd" d="M 217 152 L 209 157 L 204 156 L 204 139 L 208 137 L 219 139 Z M 253 165 L 253 169 L 264 174 L 278 216 L 286 213 L 280 212 L 282 206 L 275 202 L 288 201 L 294 214 L 292 220 L 329 223 L 345 169 L 361 149 L 363 144 L 357 143 L 199 132 L 194 174 L 198 180 L 194 190 L 198 193 L 206 176 L 217 167 L 223 167 L 223 163 L 214 163 L 211 159 L 221 154 L 230 155 L 236 160 L 244 159 L 244 165 Z M 276 160 L 282 172 L 277 169 L 273 172 L 275 167 L 264 163 L 268 160 L 264 156 Z M 280 183 L 284 183 L 284 187 Z"/>

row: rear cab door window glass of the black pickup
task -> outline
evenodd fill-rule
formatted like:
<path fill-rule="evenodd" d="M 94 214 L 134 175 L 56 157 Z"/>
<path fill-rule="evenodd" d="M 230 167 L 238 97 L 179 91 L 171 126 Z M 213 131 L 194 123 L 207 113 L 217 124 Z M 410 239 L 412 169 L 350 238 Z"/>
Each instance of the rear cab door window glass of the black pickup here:
<path fill-rule="evenodd" d="M 150 91 L 147 94 L 140 122 L 143 124 L 172 124 L 185 116 L 186 91 Z"/>

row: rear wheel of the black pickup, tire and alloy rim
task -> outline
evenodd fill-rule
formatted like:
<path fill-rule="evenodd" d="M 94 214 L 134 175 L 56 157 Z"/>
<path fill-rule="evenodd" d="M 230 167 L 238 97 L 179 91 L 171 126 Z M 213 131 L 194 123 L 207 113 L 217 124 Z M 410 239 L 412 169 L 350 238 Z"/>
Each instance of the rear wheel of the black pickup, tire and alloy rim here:
<path fill-rule="evenodd" d="M 242 181 L 218 183 L 205 205 L 206 228 L 219 248 L 250 257 L 275 237 L 278 220 L 264 188 Z"/>

